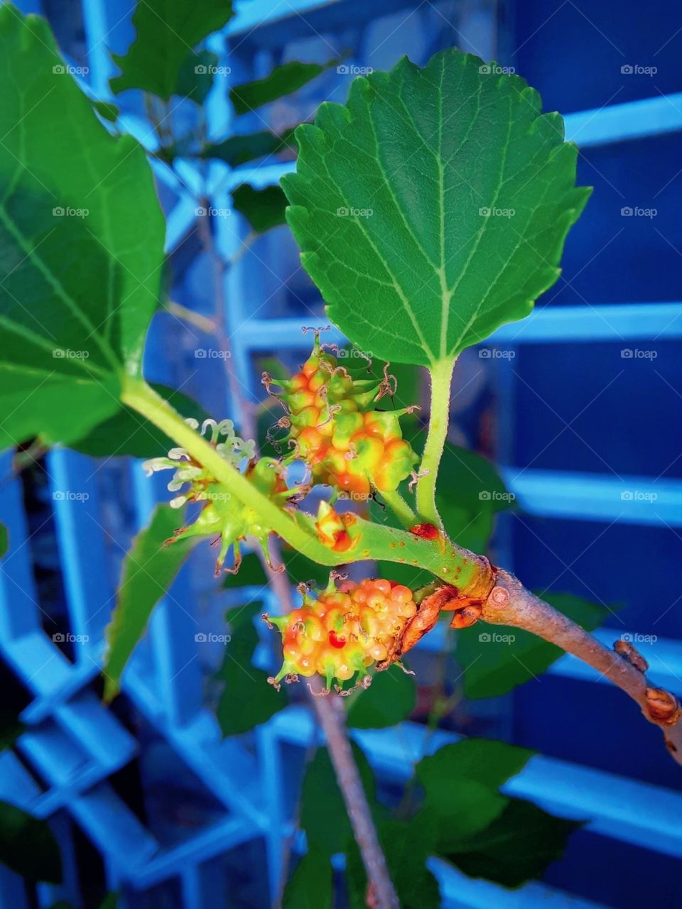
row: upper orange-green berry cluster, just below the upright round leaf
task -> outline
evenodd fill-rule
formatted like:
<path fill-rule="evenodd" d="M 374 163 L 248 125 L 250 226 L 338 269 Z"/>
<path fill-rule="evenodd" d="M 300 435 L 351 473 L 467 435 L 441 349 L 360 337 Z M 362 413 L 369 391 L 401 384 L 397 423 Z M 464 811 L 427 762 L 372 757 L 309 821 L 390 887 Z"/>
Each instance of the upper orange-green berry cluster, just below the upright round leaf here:
<path fill-rule="evenodd" d="M 273 382 L 264 375 L 264 382 Z M 395 380 L 393 380 L 395 384 Z M 403 439 L 399 417 L 406 410 L 376 410 L 392 394 L 391 377 L 356 380 L 327 353 L 316 337 L 313 353 L 291 379 L 277 381 L 289 415 L 280 421 L 295 444 L 293 457 L 308 464 L 313 479 L 363 501 L 372 492 L 393 492 L 416 464 Z"/>

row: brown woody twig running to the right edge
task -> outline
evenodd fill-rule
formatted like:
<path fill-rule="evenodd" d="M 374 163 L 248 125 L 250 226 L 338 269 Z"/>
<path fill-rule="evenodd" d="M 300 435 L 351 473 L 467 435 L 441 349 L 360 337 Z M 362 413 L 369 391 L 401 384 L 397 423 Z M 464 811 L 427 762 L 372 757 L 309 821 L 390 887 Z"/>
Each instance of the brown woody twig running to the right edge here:
<path fill-rule="evenodd" d="M 490 624 L 523 628 L 593 666 L 639 704 L 649 723 L 659 726 L 668 751 L 677 764 L 682 764 L 682 711 L 677 698 L 663 688 L 648 684 L 643 672 L 646 663 L 634 648 L 623 654 L 608 650 L 506 571 L 497 573 L 495 586 L 483 604 L 481 619 Z"/>

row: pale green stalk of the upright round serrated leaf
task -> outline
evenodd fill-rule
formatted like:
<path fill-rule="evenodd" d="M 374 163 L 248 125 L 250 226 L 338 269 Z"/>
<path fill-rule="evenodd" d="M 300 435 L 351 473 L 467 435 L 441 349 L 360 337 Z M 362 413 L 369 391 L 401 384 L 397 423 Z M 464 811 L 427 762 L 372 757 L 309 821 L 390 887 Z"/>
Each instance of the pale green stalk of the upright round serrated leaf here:
<path fill-rule="evenodd" d="M 454 365 L 453 360 L 439 360 L 429 367 L 431 409 L 424 455 L 419 466 L 419 473 L 425 475 L 420 476 L 416 484 L 416 510 L 427 521 L 436 524 L 436 527 L 442 525 L 436 507 L 436 478 L 450 422 L 450 385 Z"/>

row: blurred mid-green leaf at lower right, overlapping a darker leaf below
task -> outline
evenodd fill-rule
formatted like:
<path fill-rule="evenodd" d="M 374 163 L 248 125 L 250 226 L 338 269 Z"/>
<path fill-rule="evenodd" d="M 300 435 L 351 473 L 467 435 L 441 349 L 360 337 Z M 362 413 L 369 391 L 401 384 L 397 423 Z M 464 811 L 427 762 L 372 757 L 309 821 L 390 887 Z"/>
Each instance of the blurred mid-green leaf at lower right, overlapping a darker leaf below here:
<path fill-rule="evenodd" d="M 416 766 L 416 779 L 425 791 L 416 819 L 419 830 L 436 829 L 438 850 L 443 852 L 454 840 L 486 828 L 508 802 L 499 786 L 532 754 L 527 748 L 472 738 L 423 758 Z"/>

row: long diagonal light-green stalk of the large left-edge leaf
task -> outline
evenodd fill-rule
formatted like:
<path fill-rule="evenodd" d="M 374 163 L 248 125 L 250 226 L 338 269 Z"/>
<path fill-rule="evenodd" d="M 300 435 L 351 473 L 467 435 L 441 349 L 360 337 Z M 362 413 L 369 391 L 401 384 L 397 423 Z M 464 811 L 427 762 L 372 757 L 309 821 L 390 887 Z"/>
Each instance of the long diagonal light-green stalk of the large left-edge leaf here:
<path fill-rule="evenodd" d="M 182 416 L 144 380 L 126 378 L 122 400 L 185 448 L 199 464 L 211 471 L 218 483 L 225 484 L 240 502 L 255 508 L 264 522 L 287 543 L 316 562 L 336 564 L 334 553 L 319 543 L 304 527 L 296 524 L 291 514 L 271 502 L 244 474 L 240 474 L 236 467 L 217 454 L 213 445 L 209 445 L 206 439 L 188 426 Z"/>

